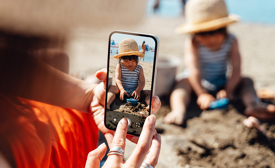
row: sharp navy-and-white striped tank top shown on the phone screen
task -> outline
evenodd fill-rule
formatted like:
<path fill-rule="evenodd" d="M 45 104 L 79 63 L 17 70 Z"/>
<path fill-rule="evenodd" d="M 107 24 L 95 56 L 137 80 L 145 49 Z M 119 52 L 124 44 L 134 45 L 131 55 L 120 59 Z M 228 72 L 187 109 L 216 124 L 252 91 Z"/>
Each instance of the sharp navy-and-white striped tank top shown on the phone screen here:
<path fill-rule="evenodd" d="M 121 83 L 123 86 L 123 89 L 131 96 L 133 91 L 135 91 L 138 87 L 139 81 L 139 75 L 140 75 L 140 69 L 141 66 L 138 65 L 134 71 L 129 71 L 125 67 L 125 65 L 121 62 Z"/>

